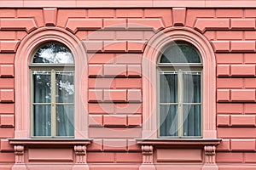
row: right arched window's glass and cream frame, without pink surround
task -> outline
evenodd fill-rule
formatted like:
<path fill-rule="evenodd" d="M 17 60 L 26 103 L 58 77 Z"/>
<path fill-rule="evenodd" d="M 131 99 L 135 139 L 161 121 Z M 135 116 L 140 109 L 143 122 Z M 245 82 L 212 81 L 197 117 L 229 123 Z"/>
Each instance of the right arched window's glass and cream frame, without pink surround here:
<path fill-rule="evenodd" d="M 171 42 L 157 64 L 160 138 L 201 138 L 201 54 L 189 42 Z"/>

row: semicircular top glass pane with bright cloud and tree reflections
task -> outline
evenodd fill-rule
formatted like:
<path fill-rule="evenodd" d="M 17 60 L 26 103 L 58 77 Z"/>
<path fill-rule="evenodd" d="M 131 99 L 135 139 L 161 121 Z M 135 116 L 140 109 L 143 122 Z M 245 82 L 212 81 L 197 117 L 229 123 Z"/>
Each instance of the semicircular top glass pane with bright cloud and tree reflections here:
<path fill-rule="evenodd" d="M 33 63 L 73 64 L 73 55 L 64 44 L 49 42 L 38 48 Z"/>

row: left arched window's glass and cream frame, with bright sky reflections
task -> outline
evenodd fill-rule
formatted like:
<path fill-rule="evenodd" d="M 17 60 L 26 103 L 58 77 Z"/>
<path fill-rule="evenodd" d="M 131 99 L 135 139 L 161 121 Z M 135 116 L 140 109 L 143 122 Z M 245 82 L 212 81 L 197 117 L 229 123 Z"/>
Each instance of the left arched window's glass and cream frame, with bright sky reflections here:
<path fill-rule="evenodd" d="M 33 54 L 32 137 L 74 137 L 74 60 L 66 45 L 46 42 Z"/>

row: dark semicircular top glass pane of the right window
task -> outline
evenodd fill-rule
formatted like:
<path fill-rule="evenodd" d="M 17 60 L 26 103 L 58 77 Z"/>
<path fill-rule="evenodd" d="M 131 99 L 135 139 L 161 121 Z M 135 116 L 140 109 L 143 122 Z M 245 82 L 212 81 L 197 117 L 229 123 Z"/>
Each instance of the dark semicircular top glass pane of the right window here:
<path fill-rule="evenodd" d="M 160 56 L 160 63 L 201 63 L 201 55 L 190 43 L 172 42 Z"/>

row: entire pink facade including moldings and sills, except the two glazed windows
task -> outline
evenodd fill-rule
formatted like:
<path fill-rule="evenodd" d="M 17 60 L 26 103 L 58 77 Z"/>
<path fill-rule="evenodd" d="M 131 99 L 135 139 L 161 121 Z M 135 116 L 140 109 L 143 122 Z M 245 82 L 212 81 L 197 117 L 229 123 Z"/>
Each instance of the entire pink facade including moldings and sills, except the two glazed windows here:
<path fill-rule="evenodd" d="M 241 2 L 1 0 L 0 169 L 256 169 L 256 1 Z M 172 41 L 201 54 L 201 138 L 158 135 Z M 44 42 L 73 54 L 72 139 L 32 138 L 29 65 Z"/>

